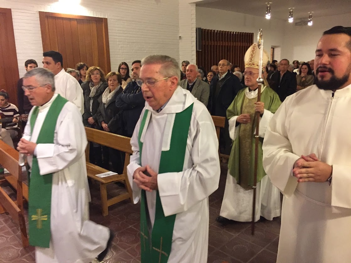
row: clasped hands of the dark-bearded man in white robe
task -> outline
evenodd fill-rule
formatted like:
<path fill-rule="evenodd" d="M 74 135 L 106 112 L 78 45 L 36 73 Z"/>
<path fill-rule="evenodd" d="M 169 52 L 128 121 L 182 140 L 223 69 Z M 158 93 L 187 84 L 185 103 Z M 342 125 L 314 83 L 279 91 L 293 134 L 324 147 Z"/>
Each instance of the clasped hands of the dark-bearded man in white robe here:
<path fill-rule="evenodd" d="M 299 183 L 317 182 L 323 183 L 328 180 L 332 174 L 332 166 L 319 161 L 316 154 L 302 155 L 294 163 L 292 170 L 294 176 L 298 178 Z"/>

